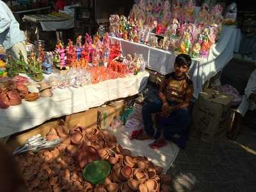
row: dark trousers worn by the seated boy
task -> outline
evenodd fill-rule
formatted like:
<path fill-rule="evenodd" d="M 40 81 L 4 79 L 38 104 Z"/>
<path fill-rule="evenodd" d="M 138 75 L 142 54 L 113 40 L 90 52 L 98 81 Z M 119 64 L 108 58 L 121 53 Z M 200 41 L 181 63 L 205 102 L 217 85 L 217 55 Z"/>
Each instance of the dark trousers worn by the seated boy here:
<path fill-rule="evenodd" d="M 177 105 L 177 102 L 168 101 L 170 106 Z M 189 124 L 191 122 L 191 116 L 188 108 L 178 109 L 173 111 L 167 118 L 157 117 L 157 131 L 154 131 L 151 115 L 161 111 L 163 102 L 157 100 L 157 102 L 148 102 L 143 105 L 142 116 L 145 126 L 145 132 L 148 136 L 158 139 L 163 131 L 164 138 L 166 140 L 172 140 L 177 143 L 179 147 L 184 148 L 186 143 L 186 133 L 188 131 Z M 173 138 L 175 134 L 179 134 L 179 138 Z"/>

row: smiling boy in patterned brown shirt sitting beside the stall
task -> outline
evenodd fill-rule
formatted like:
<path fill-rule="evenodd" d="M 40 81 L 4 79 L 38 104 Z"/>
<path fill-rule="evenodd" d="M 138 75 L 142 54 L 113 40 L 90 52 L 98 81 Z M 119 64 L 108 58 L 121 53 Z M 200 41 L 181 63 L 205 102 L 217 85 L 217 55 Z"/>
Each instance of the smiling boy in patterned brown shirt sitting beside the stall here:
<path fill-rule="evenodd" d="M 163 79 L 157 102 L 148 102 L 143 105 L 142 116 L 147 135 L 138 139 L 152 139 L 151 148 L 165 146 L 164 141 L 172 140 L 179 147 L 184 148 L 186 133 L 191 122 L 188 106 L 193 96 L 193 82 L 187 72 L 191 65 L 191 58 L 187 54 L 179 54 L 175 58 L 174 70 Z M 154 131 L 151 115 L 157 115 L 157 131 Z"/>

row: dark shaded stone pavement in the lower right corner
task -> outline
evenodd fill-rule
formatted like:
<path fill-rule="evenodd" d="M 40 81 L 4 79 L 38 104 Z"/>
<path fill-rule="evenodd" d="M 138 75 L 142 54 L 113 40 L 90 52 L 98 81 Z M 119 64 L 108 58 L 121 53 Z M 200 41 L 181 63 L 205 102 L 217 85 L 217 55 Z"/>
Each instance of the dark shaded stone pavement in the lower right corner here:
<path fill-rule="evenodd" d="M 193 183 L 190 179 L 183 182 L 175 179 L 180 173 L 191 173 L 190 177 L 196 178 L 194 188 L 190 188 L 192 190 L 186 187 Z M 186 149 L 180 150 L 168 174 L 174 178 L 174 191 L 255 192 L 256 155 L 226 139 L 211 144 L 191 137 Z"/>

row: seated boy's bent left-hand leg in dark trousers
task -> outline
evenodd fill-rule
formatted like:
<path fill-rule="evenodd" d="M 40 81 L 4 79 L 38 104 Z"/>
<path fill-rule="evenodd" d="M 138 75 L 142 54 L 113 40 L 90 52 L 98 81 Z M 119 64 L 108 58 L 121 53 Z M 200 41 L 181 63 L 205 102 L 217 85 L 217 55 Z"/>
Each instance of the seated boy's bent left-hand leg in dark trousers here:
<path fill-rule="evenodd" d="M 154 137 L 155 133 L 151 115 L 161 111 L 161 108 L 162 102 L 160 100 L 157 100 L 157 102 L 145 103 L 142 107 L 144 129 L 145 132 L 147 133 L 147 136 L 150 136 L 151 138 Z"/>

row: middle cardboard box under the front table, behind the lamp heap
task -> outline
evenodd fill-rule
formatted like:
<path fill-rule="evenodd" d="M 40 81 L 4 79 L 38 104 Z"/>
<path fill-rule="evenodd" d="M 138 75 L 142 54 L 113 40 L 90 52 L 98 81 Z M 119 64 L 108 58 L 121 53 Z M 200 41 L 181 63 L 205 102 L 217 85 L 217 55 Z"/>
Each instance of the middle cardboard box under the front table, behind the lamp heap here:
<path fill-rule="evenodd" d="M 97 109 L 89 109 L 81 113 L 74 113 L 66 116 L 65 127 L 72 129 L 77 124 L 82 127 L 97 128 Z"/>

